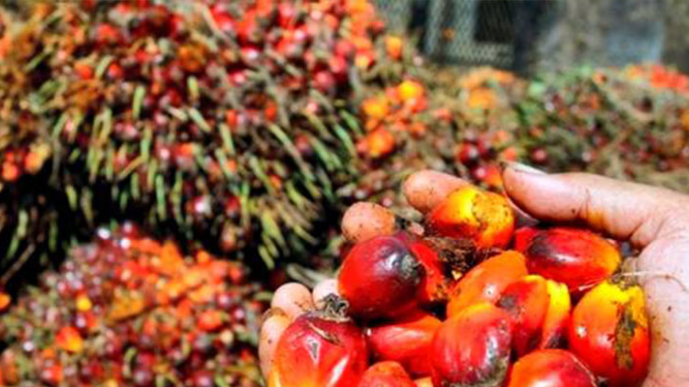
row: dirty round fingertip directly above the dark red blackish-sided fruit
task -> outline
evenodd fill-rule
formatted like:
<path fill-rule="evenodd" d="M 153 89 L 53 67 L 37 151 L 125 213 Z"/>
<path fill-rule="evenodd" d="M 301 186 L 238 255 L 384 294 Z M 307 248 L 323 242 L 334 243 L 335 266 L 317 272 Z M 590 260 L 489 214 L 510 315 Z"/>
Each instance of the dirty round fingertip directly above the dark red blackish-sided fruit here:
<path fill-rule="evenodd" d="M 349 207 L 342 217 L 342 234 L 350 242 L 361 242 L 395 232 L 395 215 L 389 209 L 368 202 Z"/>

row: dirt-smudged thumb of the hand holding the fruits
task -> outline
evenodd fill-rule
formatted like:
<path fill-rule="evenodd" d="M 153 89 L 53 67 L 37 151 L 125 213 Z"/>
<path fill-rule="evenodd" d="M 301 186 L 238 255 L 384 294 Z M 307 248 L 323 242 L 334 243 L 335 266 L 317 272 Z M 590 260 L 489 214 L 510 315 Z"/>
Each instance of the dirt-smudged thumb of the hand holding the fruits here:
<path fill-rule="evenodd" d="M 540 220 L 583 221 L 618 239 L 646 246 L 686 196 L 590 174 L 547 175 L 525 165 L 503 171 L 504 189 L 517 206 Z"/>

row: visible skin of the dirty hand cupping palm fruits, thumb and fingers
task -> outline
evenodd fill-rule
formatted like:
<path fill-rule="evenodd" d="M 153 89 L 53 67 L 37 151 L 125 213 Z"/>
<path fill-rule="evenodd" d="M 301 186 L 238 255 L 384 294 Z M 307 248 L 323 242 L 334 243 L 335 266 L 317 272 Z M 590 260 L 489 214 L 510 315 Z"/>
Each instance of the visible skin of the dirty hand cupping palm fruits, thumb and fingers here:
<path fill-rule="evenodd" d="M 508 198 L 520 213 L 539 220 L 579 223 L 641 250 L 635 262 L 646 292 L 652 333 L 652 355 L 644 387 L 689 383 L 689 196 L 656 187 L 590 174 L 544 174 L 526 165 L 510 164 L 502 174 Z M 409 204 L 422 213 L 433 209 L 451 191 L 468 184 L 435 171 L 420 171 L 404 183 Z M 391 211 L 358 203 L 342 219 L 351 242 L 394 231 Z M 268 375 L 272 351 L 289 322 L 337 293 L 336 280 L 325 280 L 313 292 L 285 284 L 271 304 L 260 335 L 260 361 Z M 298 307 L 295 307 L 297 305 Z"/>

